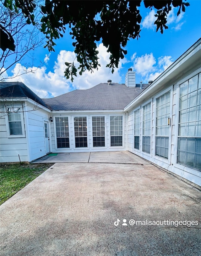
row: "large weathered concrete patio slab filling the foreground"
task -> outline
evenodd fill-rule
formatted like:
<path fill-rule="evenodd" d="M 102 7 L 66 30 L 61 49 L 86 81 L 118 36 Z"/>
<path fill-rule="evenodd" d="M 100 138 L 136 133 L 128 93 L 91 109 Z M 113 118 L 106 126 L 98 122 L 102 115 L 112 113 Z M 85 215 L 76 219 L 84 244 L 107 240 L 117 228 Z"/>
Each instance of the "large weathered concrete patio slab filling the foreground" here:
<path fill-rule="evenodd" d="M 200 255 L 201 192 L 118 154 L 70 156 L 3 203 L 1 256 Z M 133 163 L 95 162 L 114 155 Z"/>

